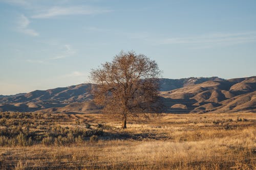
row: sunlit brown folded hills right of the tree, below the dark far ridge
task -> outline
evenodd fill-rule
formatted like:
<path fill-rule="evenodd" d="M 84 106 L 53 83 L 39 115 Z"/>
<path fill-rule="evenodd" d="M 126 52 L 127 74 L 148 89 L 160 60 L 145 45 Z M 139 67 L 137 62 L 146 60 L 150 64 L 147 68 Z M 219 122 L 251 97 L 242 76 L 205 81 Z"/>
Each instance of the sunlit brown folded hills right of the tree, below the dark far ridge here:
<path fill-rule="evenodd" d="M 256 111 L 256 77 L 216 79 L 161 91 L 165 112 Z M 182 106 L 178 107 L 177 104 Z M 175 107 L 174 107 L 175 106 Z"/>

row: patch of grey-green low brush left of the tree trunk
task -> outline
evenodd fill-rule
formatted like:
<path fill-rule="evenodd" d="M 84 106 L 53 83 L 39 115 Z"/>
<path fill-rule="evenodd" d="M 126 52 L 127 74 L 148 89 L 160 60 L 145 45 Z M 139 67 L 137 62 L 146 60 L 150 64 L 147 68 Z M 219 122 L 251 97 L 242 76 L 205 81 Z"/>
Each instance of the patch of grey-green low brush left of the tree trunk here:
<path fill-rule="evenodd" d="M 0 146 L 32 144 L 67 145 L 102 135 L 102 128 L 92 128 L 85 120 L 83 126 L 62 127 L 63 115 L 0 112 Z"/>

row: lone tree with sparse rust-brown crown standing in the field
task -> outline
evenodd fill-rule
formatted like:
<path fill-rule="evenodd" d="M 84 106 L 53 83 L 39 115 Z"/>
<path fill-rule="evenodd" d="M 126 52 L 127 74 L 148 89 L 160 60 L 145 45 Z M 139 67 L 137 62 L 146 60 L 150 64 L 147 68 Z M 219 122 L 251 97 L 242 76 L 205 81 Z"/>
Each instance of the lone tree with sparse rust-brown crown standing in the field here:
<path fill-rule="evenodd" d="M 112 62 L 101 66 L 92 69 L 90 76 L 97 84 L 92 90 L 95 103 L 103 106 L 103 113 L 121 115 L 125 129 L 127 116 L 153 108 L 161 71 L 154 60 L 135 52 L 120 52 Z"/>

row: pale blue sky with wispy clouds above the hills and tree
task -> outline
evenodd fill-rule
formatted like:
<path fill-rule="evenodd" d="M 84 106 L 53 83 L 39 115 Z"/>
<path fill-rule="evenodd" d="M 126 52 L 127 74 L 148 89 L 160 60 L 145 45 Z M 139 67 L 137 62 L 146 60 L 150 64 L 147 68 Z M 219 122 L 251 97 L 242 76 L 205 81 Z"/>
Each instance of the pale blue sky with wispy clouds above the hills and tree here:
<path fill-rule="evenodd" d="M 89 82 L 121 50 L 164 78 L 256 75 L 256 1 L 0 0 L 0 94 Z"/>

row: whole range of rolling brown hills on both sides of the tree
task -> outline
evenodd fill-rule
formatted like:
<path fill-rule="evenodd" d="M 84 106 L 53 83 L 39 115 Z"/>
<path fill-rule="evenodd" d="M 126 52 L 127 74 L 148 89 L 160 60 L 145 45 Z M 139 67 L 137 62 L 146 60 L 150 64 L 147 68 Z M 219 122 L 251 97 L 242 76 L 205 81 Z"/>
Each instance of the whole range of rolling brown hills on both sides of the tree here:
<path fill-rule="evenodd" d="M 237 79 L 159 79 L 163 112 L 256 111 L 256 76 Z M 79 84 L 16 95 L 0 95 L 0 111 L 99 112 L 90 93 L 94 84 Z"/>

